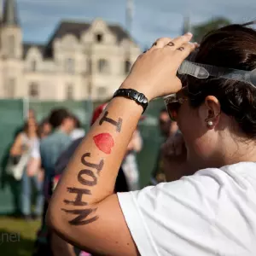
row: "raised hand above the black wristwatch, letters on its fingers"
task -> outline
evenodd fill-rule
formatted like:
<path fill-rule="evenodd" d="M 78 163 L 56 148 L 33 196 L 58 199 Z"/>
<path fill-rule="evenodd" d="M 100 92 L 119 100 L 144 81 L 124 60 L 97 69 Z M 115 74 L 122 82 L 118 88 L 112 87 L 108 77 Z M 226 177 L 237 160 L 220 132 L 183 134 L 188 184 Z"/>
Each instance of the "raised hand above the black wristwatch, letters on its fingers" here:
<path fill-rule="evenodd" d="M 121 88 L 142 92 L 148 101 L 177 92 L 182 87 L 177 69 L 198 46 L 189 43 L 191 33 L 179 38 L 160 38 L 151 49 L 140 55 Z"/>

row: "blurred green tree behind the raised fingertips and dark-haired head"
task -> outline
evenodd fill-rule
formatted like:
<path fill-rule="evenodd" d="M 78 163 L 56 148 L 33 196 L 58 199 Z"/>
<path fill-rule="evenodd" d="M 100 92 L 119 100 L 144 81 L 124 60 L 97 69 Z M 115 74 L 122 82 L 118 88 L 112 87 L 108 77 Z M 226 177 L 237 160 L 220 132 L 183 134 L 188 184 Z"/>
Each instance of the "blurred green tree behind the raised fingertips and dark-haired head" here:
<path fill-rule="evenodd" d="M 193 26 L 193 39 L 195 42 L 200 43 L 201 39 L 212 30 L 218 29 L 223 26 L 230 25 L 230 20 L 224 18 L 224 17 L 217 17 L 211 20 L 207 20 L 204 23 L 201 23 L 200 25 Z"/>

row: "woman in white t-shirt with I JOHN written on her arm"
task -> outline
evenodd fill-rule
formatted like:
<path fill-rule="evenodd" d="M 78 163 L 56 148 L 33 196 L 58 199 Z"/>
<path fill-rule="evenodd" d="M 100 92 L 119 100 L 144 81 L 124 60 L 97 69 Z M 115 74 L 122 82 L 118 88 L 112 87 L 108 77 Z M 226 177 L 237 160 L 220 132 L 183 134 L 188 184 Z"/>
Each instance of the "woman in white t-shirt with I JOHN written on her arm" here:
<path fill-rule="evenodd" d="M 222 74 L 229 79 L 207 78 L 205 69 L 197 73 L 205 79 L 189 76 L 180 91 L 177 69 L 198 47 L 190 39 L 188 33 L 156 41 L 138 57 L 119 91 L 137 90 L 148 101 L 179 91 L 168 110 L 183 134 L 190 176 L 113 194 L 146 107 L 141 94 L 133 94 L 137 103 L 117 92 L 80 144 L 50 203 L 49 224 L 67 241 L 112 256 L 256 254 L 256 89 L 237 80 L 242 79 L 237 73 L 228 76 L 228 69 Z M 203 39 L 195 61 L 214 65 L 208 72 L 218 67 L 250 71 L 256 67 L 255 45 L 253 29 L 226 26 Z"/>

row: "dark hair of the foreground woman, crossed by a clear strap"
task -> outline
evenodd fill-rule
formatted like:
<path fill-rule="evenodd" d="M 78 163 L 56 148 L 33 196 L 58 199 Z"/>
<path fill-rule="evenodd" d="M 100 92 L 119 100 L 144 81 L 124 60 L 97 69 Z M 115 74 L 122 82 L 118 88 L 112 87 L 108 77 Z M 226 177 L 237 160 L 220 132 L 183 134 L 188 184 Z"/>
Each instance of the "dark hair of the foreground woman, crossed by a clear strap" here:
<path fill-rule="evenodd" d="M 256 32 L 244 25 L 230 25 L 208 33 L 195 55 L 195 62 L 217 67 L 253 70 L 256 67 Z M 246 137 L 256 137 L 256 89 L 231 79 L 187 77 L 189 102 L 199 107 L 206 96 L 216 96 L 221 110 L 233 117 Z"/>

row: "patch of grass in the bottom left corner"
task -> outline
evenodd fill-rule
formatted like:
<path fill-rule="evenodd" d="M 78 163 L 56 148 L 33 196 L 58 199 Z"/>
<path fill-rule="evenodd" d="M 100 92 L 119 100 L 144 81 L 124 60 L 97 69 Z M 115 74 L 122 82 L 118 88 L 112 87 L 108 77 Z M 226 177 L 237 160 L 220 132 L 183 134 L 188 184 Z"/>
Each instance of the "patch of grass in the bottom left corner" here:
<path fill-rule="evenodd" d="M 40 221 L 0 217 L 0 255 L 31 256 Z"/>

